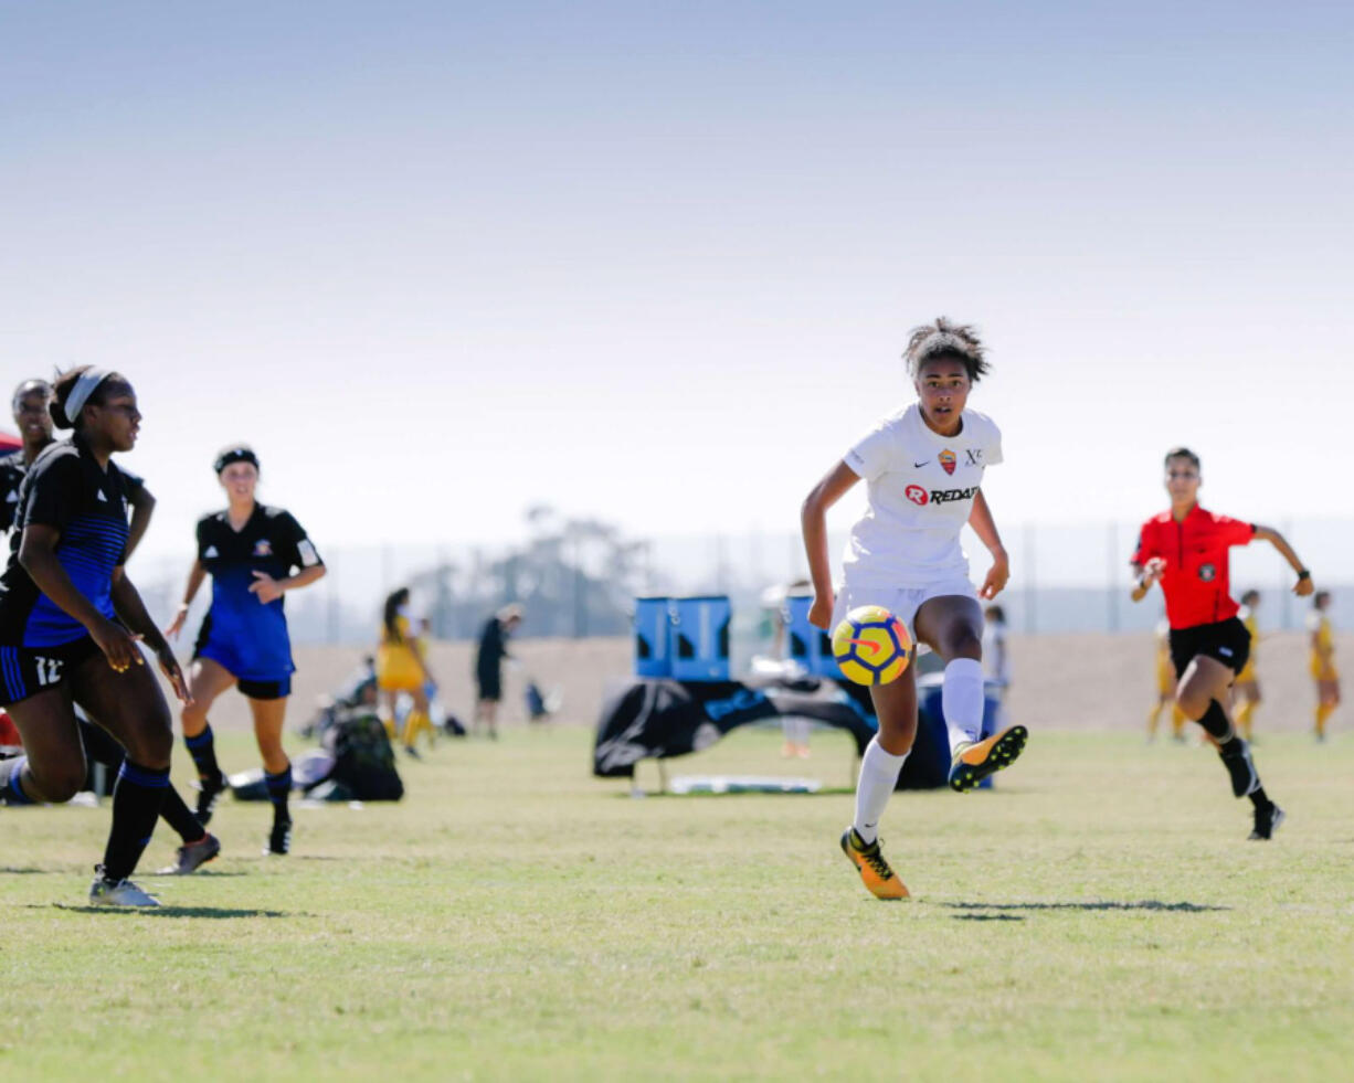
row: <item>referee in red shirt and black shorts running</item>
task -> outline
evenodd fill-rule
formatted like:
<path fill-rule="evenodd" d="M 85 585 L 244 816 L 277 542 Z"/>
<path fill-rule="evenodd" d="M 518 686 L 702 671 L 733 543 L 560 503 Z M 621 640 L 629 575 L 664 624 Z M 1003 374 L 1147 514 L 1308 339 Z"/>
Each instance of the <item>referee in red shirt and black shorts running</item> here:
<path fill-rule="evenodd" d="M 1284 810 L 1265 793 L 1250 746 L 1227 712 L 1228 689 L 1246 666 L 1251 636 L 1238 619 L 1240 606 L 1228 590 L 1232 546 L 1254 539 L 1269 542 L 1297 573 L 1294 594 L 1312 593 L 1312 575 L 1278 531 L 1242 523 L 1198 506 L 1198 456 L 1189 448 L 1166 452 L 1166 491 L 1171 509 L 1143 524 L 1133 554 L 1133 601 L 1152 583 L 1162 585 L 1166 619 L 1171 625 L 1171 661 L 1179 684 L 1175 703 L 1217 742 L 1223 766 L 1232 777 L 1232 793 L 1255 805 L 1252 839 L 1267 839 L 1284 822 Z"/>

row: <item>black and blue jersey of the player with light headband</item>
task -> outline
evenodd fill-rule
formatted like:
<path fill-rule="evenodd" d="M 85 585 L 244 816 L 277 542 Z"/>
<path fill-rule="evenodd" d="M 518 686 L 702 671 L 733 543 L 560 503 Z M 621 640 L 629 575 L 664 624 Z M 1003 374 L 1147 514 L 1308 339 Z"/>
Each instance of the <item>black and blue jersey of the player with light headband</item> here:
<path fill-rule="evenodd" d="M 122 471 L 107 471 L 79 437 L 49 444 L 19 485 L 9 537 L 9 565 L 0 577 L 0 643 L 57 647 L 88 635 L 85 627 L 43 594 L 19 563 L 26 527 L 51 527 L 57 559 L 74 588 L 110 620 L 112 573 L 127 556 L 127 495 Z"/>

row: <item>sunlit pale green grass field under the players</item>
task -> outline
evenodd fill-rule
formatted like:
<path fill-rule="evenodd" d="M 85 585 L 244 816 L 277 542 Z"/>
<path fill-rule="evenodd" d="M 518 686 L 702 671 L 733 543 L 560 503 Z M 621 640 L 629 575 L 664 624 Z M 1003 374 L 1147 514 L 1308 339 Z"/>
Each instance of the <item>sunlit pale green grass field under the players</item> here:
<path fill-rule="evenodd" d="M 793 768 L 779 741 L 673 772 L 845 785 L 845 738 Z M 298 810 L 282 860 L 267 805 L 225 803 L 219 861 L 138 877 L 153 914 L 83 906 L 107 807 L 0 810 L 0 1072 L 1349 1076 L 1354 742 L 1257 749 L 1290 816 L 1262 845 L 1210 753 L 1036 732 L 997 792 L 895 797 L 902 904 L 837 849 L 849 792 L 635 800 L 589 742 L 444 742 L 398 805 Z"/>

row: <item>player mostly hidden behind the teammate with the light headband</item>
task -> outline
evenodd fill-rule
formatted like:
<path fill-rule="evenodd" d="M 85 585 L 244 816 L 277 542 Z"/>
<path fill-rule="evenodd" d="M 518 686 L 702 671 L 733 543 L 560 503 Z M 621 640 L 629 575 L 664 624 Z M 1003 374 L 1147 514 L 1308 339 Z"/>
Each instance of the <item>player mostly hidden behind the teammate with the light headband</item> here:
<path fill-rule="evenodd" d="M 0 456 L 0 532 L 5 532 L 14 525 L 14 513 L 19 506 L 19 489 L 28 475 L 28 467 L 32 466 L 38 455 L 56 443 L 51 430 L 51 412 L 47 409 L 50 402 L 51 384 L 46 380 L 24 380 L 15 389 L 14 422 L 19 429 L 23 447 Z M 133 551 L 150 525 L 156 500 L 141 478 L 129 470 L 121 472 L 127 506 L 131 509 L 126 551 L 126 559 L 130 560 Z M 102 727 L 93 726 L 83 717 L 77 716 L 76 724 L 80 728 L 80 743 L 84 746 L 85 758 L 103 764 L 116 778 L 126 759 L 122 746 Z M 221 853 L 221 842 L 203 830 L 173 785 L 165 788 L 165 800 L 160 815 L 183 839 L 183 845 L 175 854 L 175 864 L 161 872 L 187 875 Z"/>

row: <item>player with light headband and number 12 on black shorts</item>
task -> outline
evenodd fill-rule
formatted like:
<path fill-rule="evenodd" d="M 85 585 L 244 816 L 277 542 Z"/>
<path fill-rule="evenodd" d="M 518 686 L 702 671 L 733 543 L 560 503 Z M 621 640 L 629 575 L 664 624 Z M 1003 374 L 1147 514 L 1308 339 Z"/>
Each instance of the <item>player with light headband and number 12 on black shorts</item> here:
<path fill-rule="evenodd" d="M 5 804 L 66 801 L 85 777 L 73 704 L 126 749 L 112 795 L 95 906 L 158 903 L 129 879 L 169 784 L 173 728 L 144 640 L 181 700 L 173 651 L 123 573 L 127 501 L 114 452 L 131 451 L 141 413 L 127 379 L 83 366 L 56 384 L 53 421 L 74 436 L 43 449 L 19 487 L 18 529 L 0 577 L 0 689 L 24 755 L 0 764 Z"/>

